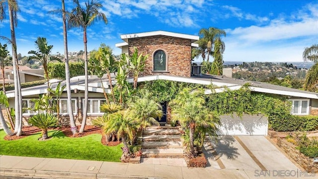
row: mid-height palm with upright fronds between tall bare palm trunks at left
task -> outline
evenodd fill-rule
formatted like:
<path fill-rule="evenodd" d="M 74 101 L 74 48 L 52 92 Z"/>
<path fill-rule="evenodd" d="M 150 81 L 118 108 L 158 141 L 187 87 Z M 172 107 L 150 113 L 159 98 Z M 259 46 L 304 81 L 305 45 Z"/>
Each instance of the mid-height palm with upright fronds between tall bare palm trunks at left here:
<path fill-rule="evenodd" d="M 50 88 L 50 79 L 49 79 L 49 73 L 48 73 L 48 63 L 52 62 L 54 60 L 61 62 L 61 59 L 50 55 L 51 50 L 53 48 L 53 45 L 48 45 L 48 42 L 47 42 L 46 38 L 44 38 L 44 37 L 37 38 L 37 40 L 35 41 L 35 47 L 36 47 L 37 51 L 31 50 L 28 52 L 28 54 L 33 54 L 33 56 L 30 56 L 28 58 L 28 61 L 36 59 L 42 63 L 44 73 L 45 73 L 46 79 L 48 81 L 48 89 L 49 89 Z"/>

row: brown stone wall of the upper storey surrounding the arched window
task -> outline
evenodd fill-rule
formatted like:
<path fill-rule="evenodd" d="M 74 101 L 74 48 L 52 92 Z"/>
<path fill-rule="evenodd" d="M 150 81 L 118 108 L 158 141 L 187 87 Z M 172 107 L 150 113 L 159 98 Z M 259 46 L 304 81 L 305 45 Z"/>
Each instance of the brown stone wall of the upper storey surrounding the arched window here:
<path fill-rule="evenodd" d="M 140 76 L 173 75 L 181 77 L 191 76 L 191 40 L 163 35 L 129 39 L 129 55 L 133 54 L 134 47 L 138 53 L 149 54 L 145 71 Z M 153 72 L 153 54 L 156 50 L 163 50 L 167 55 L 168 72 Z"/>

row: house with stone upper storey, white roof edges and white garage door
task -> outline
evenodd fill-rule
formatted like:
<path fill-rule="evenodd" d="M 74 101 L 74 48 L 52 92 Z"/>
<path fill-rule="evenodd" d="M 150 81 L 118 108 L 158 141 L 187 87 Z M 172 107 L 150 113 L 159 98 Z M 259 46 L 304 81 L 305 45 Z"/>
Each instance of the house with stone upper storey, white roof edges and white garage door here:
<path fill-rule="evenodd" d="M 293 104 L 292 113 L 295 115 L 308 115 L 318 112 L 318 93 L 299 89 L 291 89 L 260 82 L 248 82 L 232 78 L 232 69 L 224 69 L 226 76 L 196 75 L 191 76 L 191 48 L 197 47 L 194 42 L 199 39 L 195 35 L 187 35 L 166 31 L 144 32 L 136 34 L 121 35 L 124 42 L 116 44 L 116 47 L 122 49 L 123 53 L 132 54 L 134 47 L 139 53 L 149 54 L 146 61 L 145 71 L 140 74 L 138 82 L 169 80 L 176 82 L 211 85 L 217 89 L 215 92 L 222 92 L 226 89 L 236 90 L 244 84 L 249 83 L 251 91 L 270 93 L 288 96 Z M 133 82 L 129 78 L 130 83 Z M 106 75 L 102 78 L 102 83 L 107 93 L 110 93 L 109 86 L 115 85 L 115 74 L 112 74 L 109 82 Z M 62 82 L 62 85 L 65 81 Z M 52 83 L 52 88 L 57 83 Z M 66 90 L 66 89 L 65 89 Z M 84 98 L 84 78 L 75 77 L 71 79 L 72 106 L 77 124 L 80 124 L 82 118 L 82 106 Z M 105 102 L 103 89 L 99 78 L 89 76 L 88 78 L 88 123 L 89 119 L 101 116 L 100 105 Z M 47 86 L 40 85 L 22 89 L 22 100 L 25 107 L 32 107 L 34 102 L 32 98 L 38 97 L 38 94 L 46 93 Z M 205 93 L 212 91 L 206 89 Z M 8 91 L 10 105 L 14 104 L 14 92 Z M 164 116 L 160 122 L 166 123 L 170 119 L 168 101 L 162 103 Z M 65 121 L 68 121 L 67 94 L 64 92 L 60 101 L 60 113 Z M 25 119 L 34 115 L 35 112 L 26 110 L 23 112 Z M 222 116 L 223 127 L 220 134 L 229 135 L 266 135 L 268 129 L 268 120 L 263 115 L 245 115 L 242 120 L 239 117 Z"/>

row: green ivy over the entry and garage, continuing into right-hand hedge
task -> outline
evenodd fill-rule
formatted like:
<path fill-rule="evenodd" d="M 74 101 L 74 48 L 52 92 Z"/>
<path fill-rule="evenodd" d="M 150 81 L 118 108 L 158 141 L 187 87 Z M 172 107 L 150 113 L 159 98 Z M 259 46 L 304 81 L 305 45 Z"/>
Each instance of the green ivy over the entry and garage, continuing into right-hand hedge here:
<path fill-rule="evenodd" d="M 183 88 L 213 89 L 212 86 L 157 80 L 139 84 L 159 98 L 160 102 L 170 101 Z M 225 90 L 205 95 L 206 105 L 219 115 L 262 113 L 268 116 L 269 128 L 275 131 L 312 131 L 318 129 L 318 116 L 295 116 L 291 114 L 291 102 L 280 95 L 250 91 L 248 84 L 239 90 Z"/>

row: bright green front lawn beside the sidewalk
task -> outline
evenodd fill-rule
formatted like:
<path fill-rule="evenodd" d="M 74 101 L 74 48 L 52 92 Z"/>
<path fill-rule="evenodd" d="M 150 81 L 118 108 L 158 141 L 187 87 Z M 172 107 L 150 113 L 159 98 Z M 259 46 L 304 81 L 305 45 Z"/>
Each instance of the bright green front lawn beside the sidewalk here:
<path fill-rule="evenodd" d="M 53 130 L 48 132 L 51 139 L 38 141 L 40 134 L 6 141 L 3 139 L 6 134 L 0 130 L 0 155 L 120 162 L 122 144 L 104 146 L 100 142 L 100 134 L 70 138 L 59 130 Z"/>

